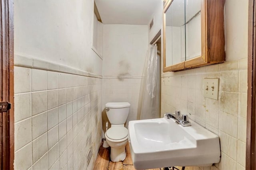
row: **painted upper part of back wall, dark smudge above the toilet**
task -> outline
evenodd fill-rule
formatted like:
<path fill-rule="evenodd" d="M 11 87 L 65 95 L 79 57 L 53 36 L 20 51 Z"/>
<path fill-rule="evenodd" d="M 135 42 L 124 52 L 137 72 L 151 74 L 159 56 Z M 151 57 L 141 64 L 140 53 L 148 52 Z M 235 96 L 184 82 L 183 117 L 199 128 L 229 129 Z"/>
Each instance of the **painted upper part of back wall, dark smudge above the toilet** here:
<path fill-rule="evenodd" d="M 141 76 L 147 25 L 104 25 L 103 76 Z"/>

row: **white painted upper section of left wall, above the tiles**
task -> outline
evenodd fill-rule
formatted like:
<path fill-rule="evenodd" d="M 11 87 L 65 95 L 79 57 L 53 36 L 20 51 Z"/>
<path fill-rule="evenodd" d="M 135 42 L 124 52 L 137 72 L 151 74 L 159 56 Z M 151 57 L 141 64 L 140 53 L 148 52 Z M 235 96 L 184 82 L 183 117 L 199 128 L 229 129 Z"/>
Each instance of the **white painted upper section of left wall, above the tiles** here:
<path fill-rule="evenodd" d="M 102 75 L 91 49 L 94 2 L 15 1 L 14 52 Z"/>

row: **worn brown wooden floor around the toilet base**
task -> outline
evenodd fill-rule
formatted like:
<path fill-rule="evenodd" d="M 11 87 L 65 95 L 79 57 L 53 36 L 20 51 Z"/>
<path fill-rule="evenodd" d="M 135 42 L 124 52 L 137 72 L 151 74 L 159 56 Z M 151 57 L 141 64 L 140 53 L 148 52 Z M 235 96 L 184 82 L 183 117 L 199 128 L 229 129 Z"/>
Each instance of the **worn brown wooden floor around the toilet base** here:
<path fill-rule="evenodd" d="M 126 158 L 122 162 L 112 162 L 110 160 L 110 147 L 103 148 L 100 146 L 95 164 L 94 170 L 135 170 L 132 164 L 132 156 L 130 153 L 129 144 L 125 146 Z M 150 170 L 160 170 L 160 168 L 150 169 Z"/>

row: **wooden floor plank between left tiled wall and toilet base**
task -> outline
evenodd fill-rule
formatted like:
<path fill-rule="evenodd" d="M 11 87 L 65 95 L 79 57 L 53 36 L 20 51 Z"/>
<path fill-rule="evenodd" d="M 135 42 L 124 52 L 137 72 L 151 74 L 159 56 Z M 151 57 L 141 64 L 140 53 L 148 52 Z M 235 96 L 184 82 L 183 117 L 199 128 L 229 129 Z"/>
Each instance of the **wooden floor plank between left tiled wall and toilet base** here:
<path fill-rule="evenodd" d="M 97 158 L 94 163 L 94 170 L 108 170 L 110 160 L 110 148 L 100 146 Z"/>

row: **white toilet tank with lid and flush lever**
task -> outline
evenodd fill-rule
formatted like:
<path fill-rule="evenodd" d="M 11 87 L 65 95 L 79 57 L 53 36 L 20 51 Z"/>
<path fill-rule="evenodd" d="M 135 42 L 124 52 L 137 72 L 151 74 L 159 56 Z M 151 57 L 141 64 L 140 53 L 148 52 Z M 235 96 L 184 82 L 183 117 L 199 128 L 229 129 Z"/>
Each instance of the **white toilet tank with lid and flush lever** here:
<path fill-rule="evenodd" d="M 111 124 L 124 124 L 128 117 L 130 106 L 128 102 L 113 102 L 105 105 L 108 120 Z"/>

